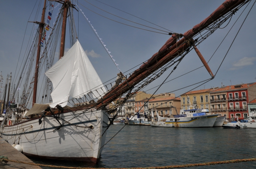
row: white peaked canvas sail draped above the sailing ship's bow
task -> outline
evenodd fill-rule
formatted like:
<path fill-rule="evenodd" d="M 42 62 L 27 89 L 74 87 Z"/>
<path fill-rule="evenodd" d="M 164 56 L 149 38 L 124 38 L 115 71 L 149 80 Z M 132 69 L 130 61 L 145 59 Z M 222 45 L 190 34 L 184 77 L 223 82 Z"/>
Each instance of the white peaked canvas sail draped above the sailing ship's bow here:
<path fill-rule="evenodd" d="M 106 92 L 99 75 L 79 41 L 76 41 L 69 51 L 45 74 L 53 83 L 51 107 L 60 103 L 62 103 L 60 104 L 62 107 L 67 105 L 66 101 L 69 96 L 81 97 L 89 93 L 90 96 L 99 97 L 103 91 Z"/>

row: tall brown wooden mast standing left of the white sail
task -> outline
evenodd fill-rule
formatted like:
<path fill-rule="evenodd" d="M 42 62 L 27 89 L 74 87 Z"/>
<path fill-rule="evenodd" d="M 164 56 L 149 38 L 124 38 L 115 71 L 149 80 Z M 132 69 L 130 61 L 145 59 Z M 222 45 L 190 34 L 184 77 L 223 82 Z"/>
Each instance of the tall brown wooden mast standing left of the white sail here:
<path fill-rule="evenodd" d="M 36 54 L 36 65 L 35 65 L 35 76 L 34 76 L 34 90 L 33 90 L 33 101 L 32 105 L 36 103 L 36 92 L 37 92 L 37 84 L 38 84 L 38 71 L 39 71 L 39 59 L 40 59 L 40 51 L 41 51 L 41 39 L 42 39 L 42 33 L 43 33 L 43 27 L 45 26 L 45 6 L 46 6 L 46 0 L 43 5 L 43 13 L 41 17 L 41 22 L 39 23 L 39 37 L 38 37 L 38 48 L 37 48 L 37 54 Z"/>

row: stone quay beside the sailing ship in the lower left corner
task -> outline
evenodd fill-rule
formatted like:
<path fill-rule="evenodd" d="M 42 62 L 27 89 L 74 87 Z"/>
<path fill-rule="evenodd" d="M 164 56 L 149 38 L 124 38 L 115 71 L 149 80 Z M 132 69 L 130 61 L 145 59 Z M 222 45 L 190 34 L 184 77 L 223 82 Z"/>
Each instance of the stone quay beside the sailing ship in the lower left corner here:
<path fill-rule="evenodd" d="M 5 140 L 0 137 L 0 144 L 3 143 Z M 0 156 L 4 155 L 7 156 L 9 160 L 16 160 L 16 161 L 23 161 L 23 162 L 30 162 L 34 163 L 28 157 L 20 153 L 16 150 L 13 146 L 9 145 L 7 142 L 4 142 L 0 145 Z M 11 169 L 11 168 L 19 168 L 19 169 L 41 169 L 39 166 L 33 166 L 29 164 L 21 164 L 8 161 L 7 164 L 0 163 L 1 169 Z"/>

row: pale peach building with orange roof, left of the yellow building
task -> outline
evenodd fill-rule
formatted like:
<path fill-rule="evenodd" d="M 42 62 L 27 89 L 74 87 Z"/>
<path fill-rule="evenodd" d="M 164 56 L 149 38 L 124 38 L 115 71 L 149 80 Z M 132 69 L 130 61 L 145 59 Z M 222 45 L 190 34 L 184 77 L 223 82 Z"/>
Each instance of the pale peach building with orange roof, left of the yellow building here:
<path fill-rule="evenodd" d="M 170 115 L 176 115 L 176 110 L 178 114 L 180 113 L 180 102 L 181 98 L 177 97 L 165 97 L 165 98 L 153 98 L 148 102 L 149 114 L 151 109 L 153 109 L 154 116 L 156 116 L 156 111 L 161 117 L 170 117 Z M 174 108 L 175 107 L 175 108 Z"/>

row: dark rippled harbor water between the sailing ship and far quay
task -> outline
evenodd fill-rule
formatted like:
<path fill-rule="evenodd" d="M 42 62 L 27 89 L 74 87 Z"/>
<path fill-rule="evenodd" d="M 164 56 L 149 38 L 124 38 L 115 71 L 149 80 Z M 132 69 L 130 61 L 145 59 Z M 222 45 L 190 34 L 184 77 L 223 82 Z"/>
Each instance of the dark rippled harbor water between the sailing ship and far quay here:
<path fill-rule="evenodd" d="M 107 139 L 123 125 L 110 126 Z M 256 129 L 165 128 L 125 126 L 105 145 L 98 164 L 31 159 L 36 163 L 70 167 L 156 167 L 256 157 Z M 49 167 L 42 167 L 50 169 Z M 256 162 L 190 168 L 256 168 Z"/>

